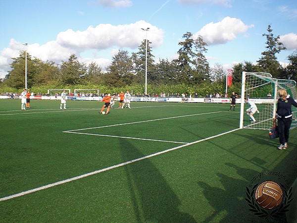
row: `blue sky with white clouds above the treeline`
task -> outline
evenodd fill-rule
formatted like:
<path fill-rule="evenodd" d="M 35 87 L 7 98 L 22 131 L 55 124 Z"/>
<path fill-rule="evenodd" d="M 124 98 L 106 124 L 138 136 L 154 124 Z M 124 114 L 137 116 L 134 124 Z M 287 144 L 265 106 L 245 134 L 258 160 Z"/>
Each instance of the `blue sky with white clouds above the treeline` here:
<path fill-rule="evenodd" d="M 0 0 L 0 21 L 0 78 L 25 49 L 56 63 L 75 54 L 104 69 L 118 50 L 138 51 L 141 28 L 149 28 L 155 60 L 176 58 L 191 32 L 208 44 L 210 65 L 256 62 L 268 24 L 287 47 L 277 55 L 282 64 L 297 49 L 296 0 Z"/>

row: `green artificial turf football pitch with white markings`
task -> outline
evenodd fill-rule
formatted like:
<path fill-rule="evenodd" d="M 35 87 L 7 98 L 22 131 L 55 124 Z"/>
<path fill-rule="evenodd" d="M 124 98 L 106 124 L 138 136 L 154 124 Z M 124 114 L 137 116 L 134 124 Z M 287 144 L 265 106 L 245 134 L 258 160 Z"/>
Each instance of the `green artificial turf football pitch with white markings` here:
<path fill-rule="evenodd" d="M 59 105 L 0 100 L 0 222 L 263 223 L 246 201 L 253 177 L 297 177 L 297 130 L 277 150 L 267 130 L 238 129 L 239 105 Z"/>

